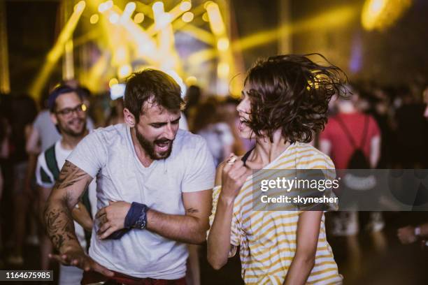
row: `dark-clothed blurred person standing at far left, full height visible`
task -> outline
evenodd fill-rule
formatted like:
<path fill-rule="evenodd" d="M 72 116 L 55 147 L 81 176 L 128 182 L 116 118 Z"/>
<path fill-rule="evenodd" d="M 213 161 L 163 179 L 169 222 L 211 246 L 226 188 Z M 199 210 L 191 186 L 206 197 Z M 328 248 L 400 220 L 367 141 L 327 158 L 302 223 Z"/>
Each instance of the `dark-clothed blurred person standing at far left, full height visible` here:
<path fill-rule="evenodd" d="M 25 144 L 31 130 L 31 123 L 37 114 L 36 103 L 27 94 L 16 96 L 12 100 L 10 119 L 10 162 L 13 165 L 13 216 L 15 217 L 13 235 L 10 243 L 13 250 L 8 263 L 20 266 L 24 263 L 22 247 L 24 244 L 26 218 L 29 209 L 29 193 L 25 187 L 28 156 Z"/>

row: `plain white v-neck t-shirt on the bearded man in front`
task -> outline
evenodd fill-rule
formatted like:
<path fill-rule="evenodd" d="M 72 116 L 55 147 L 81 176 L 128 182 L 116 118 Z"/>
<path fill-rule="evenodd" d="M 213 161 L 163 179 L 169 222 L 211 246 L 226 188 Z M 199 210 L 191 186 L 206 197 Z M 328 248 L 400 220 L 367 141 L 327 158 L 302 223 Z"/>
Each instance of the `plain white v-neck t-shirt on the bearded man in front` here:
<path fill-rule="evenodd" d="M 86 136 L 68 161 L 97 177 L 97 208 L 108 201 L 138 202 L 166 214 L 185 214 L 183 192 L 212 189 L 213 157 L 200 136 L 178 130 L 171 156 L 145 168 L 136 156 L 126 124 L 97 129 Z M 94 234 L 90 256 L 110 270 L 133 277 L 178 279 L 185 276 L 186 244 L 151 231 L 133 229 L 120 240 L 99 240 Z"/>

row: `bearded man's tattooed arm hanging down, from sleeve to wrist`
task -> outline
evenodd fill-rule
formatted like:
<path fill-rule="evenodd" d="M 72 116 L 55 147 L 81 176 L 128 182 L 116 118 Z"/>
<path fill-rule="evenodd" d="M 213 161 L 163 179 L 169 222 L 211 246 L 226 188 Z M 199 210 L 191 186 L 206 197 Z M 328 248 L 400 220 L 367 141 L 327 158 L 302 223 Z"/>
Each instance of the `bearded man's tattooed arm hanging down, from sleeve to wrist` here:
<path fill-rule="evenodd" d="M 50 193 L 43 218 L 48 236 L 60 253 L 69 247 L 80 248 L 71 211 L 91 180 L 92 177 L 85 171 L 66 161 Z"/>

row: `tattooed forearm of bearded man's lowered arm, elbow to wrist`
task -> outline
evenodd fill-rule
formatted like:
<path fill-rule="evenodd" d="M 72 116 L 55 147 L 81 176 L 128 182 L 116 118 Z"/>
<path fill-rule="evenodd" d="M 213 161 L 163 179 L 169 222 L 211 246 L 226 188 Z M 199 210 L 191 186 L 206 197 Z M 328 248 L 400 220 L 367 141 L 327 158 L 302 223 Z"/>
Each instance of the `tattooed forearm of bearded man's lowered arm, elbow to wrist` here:
<path fill-rule="evenodd" d="M 65 201 L 48 200 L 43 211 L 43 217 L 46 233 L 59 252 L 69 247 L 80 248 L 74 231 L 71 211 Z"/>

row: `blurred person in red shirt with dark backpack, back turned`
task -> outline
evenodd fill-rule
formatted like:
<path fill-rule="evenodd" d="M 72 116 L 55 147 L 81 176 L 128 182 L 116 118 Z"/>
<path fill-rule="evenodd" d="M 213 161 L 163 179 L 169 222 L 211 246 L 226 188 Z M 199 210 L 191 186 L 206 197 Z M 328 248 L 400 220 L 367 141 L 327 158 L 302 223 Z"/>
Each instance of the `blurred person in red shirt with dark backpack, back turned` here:
<path fill-rule="evenodd" d="M 357 106 L 359 93 L 348 86 L 350 98 L 337 96 L 338 113 L 329 118 L 324 131 L 320 133 L 320 150 L 331 156 L 336 169 L 376 168 L 380 156 L 380 131 L 371 115 L 364 114 Z M 366 102 L 367 100 L 364 99 Z M 361 154 L 362 159 L 357 159 Z M 348 189 L 352 191 L 352 189 Z M 370 191 L 367 189 L 367 191 Z M 343 194 L 345 195 L 345 193 Z M 352 270 L 359 270 L 361 248 L 357 240 L 359 233 L 359 212 L 341 211 L 331 213 L 331 235 L 345 236 L 350 258 L 356 263 Z M 370 212 L 366 230 L 372 233 L 377 249 L 385 247 L 385 238 L 381 231 L 385 226 L 380 212 Z"/>

